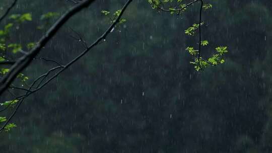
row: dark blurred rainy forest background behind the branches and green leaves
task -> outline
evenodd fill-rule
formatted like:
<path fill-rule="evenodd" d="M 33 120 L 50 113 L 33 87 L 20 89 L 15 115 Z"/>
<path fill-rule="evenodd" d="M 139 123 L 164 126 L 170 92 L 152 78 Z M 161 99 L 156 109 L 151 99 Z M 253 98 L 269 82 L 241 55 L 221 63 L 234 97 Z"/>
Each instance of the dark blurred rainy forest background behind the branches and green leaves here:
<path fill-rule="evenodd" d="M 203 13 L 203 56 L 228 46 L 226 63 L 197 72 L 184 30 L 198 21 L 199 6 L 181 15 L 134 0 L 115 29 L 87 56 L 24 102 L 0 135 L 0 152 L 271 152 L 272 1 L 213 0 Z M 125 1 L 100 0 L 77 14 L 40 56 L 66 63 L 84 47 L 69 27 L 93 42 L 109 26 L 102 10 Z M 0 2 L 4 12 L 10 0 Z M 14 29 L 12 41 L 37 41 L 40 15 L 63 13 L 65 0 L 21 0 L 12 11 L 33 21 Z M 8 22 L 8 19 L 6 20 Z M 53 23 L 53 22 L 51 22 Z M 1 25 L 4 26 L 4 23 Z M 30 80 L 53 63 L 35 60 Z M 1 98 L 0 98 L 1 99 Z"/>

